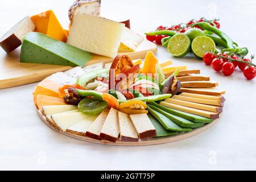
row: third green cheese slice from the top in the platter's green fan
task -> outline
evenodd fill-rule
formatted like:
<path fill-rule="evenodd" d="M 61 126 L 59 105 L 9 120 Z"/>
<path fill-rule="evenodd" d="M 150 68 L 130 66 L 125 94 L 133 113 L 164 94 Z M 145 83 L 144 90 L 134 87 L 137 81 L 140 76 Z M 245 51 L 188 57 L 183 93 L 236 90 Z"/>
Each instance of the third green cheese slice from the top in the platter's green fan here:
<path fill-rule="evenodd" d="M 170 131 L 182 131 L 181 127 L 177 125 L 175 122 L 171 121 L 171 119 L 167 118 L 165 115 L 159 113 L 158 111 L 155 111 L 150 106 L 147 106 L 147 110 L 150 111 L 150 114 L 152 114 L 158 121 L 163 125 L 163 127 L 166 130 Z"/>

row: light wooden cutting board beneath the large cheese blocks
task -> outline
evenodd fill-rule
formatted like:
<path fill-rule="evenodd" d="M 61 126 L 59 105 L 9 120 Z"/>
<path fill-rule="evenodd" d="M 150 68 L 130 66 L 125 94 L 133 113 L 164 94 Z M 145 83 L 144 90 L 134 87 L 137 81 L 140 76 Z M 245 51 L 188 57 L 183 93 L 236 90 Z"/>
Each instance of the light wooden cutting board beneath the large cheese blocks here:
<path fill-rule="evenodd" d="M 134 60 L 144 58 L 147 51 L 156 53 L 157 46 L 145 39 L 135 52 L 118 52 L 118 54 L 129 55 Z M 53 73 L 71 69 L 71 67 L 61 65 L 20 63 L 19 57 L 20 48 L 9 54 L 0 49 L 0 89 L 42 81 Z M 109 57 L 94 55 L 86 65 L 101 62 L 110 63 L 112 60 Z"/>

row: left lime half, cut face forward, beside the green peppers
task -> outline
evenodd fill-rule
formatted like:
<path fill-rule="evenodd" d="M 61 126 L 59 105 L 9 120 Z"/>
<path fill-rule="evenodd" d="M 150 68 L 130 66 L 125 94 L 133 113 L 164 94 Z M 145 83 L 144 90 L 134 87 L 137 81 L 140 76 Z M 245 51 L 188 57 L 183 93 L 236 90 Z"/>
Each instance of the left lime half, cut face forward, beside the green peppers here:
<path fill-rule="evenodd" d="M 189 52 L 191 41 L 185 34 L 176 34 L 171 37 L 167 49 L 175 57 L 183 57 Z"/>

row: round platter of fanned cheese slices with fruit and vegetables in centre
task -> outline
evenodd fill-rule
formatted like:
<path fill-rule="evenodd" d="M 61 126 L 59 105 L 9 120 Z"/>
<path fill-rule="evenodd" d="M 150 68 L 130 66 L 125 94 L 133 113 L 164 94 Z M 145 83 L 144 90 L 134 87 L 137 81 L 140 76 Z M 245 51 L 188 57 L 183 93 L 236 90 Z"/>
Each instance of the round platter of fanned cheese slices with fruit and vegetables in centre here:
<path fill-rule="evenodd" d="M 217 123 L 224 92 L 205 87 L 199 89 L 208 89 L 207 94 L 183 92 L 177 76 L 181 67 L 164 63 L 161 67 L 149 51 L 144 62 L 118 55 L 110 65 L 55 73 L 34 89 L 37 113 L 47 126 L 68 137 L 115 146 L 174 142 Z M 164 75 L 164 67 L 176 71 Z M 197 74 L 191 77 L 201 76 L 200 70 L 192 72 Z"/>

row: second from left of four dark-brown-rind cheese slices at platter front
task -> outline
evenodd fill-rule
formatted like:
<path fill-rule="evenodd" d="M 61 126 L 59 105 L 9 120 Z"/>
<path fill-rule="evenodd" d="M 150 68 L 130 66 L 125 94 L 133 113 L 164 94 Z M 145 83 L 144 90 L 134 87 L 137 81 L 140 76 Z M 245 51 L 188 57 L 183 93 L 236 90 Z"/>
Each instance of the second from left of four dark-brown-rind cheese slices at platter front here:
<path fill-rule="evenodd" d="M 119 133 L 118 111 L 112 107 L 102 127 L 100 138 L 109 140 L 110 142 L 116 142 Z"/>

